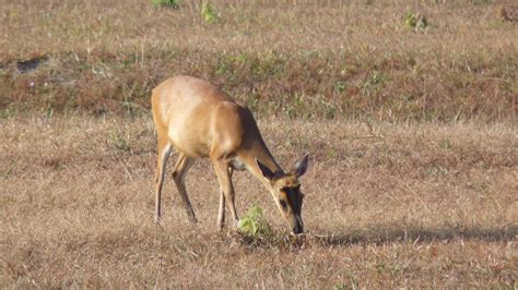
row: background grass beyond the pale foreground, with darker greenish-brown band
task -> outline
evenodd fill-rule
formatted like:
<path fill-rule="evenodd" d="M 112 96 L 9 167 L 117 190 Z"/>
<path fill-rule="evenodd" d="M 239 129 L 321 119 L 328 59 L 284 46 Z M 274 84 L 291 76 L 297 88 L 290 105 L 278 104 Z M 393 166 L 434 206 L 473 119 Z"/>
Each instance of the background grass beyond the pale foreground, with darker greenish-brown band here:
<path fill-rule="evenodd" d="M 141 113 L 178 73 L 261 114 L 379 120 L 516 118 L 513 1 L 0 1 L 0 109 Z M 405 12 L 425 15 L 405 28 Z M 26 61 L 43 61 L 20 70 Z"/>

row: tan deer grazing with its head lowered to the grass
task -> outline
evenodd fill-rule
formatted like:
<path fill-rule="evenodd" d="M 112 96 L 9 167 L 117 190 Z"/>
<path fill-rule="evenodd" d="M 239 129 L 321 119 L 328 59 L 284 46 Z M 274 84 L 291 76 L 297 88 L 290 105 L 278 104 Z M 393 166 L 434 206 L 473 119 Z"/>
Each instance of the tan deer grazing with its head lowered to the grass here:
<path fill-rule="evenodd" d="M 220 183 L 220 228 L 225 220 L 225 201 L 237 226 L 232 174 L 234 170 L 248 170 L 270 191 L 293 232 L 304 231 L 301 217 L 304 195 L 298 178 L 306 172 L 307 154 L 292 171 L 284 172 L 267 148 L 250 110 L 217 87 L 196 77 L 175 76 L 164 81 L 153 89 L 151 102 L 158 138 L 157 222 L 165 165 L 174 147 L 179 157 L 173 169 L 173 179 L 192 222 L 197 219 L 187 196 L 185 177 L 196 158 L 209 157 Z"/>

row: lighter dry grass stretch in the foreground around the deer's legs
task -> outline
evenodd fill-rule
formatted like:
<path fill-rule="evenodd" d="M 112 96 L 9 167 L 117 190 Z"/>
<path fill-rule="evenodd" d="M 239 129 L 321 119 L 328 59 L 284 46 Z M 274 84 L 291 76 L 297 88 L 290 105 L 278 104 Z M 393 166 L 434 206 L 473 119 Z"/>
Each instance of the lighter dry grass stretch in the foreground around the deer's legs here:
<path fill-rule="evenodd" d="M 516 128 L 261 120 L 289 165 L 304 152 L 305 241 L 251 176 L 237 208 L 264 209 L 272 241 L 215 230 L 208 161 L 187 178 L 189 225 L 172 182 L 153 221 L 151 118 L 12 118 L 0 138 L 4 287 L 516 287 Z M 169 195 L 170 193 L 170 195 Z M 172 197 L 173 196 L 173 197 Z"/>

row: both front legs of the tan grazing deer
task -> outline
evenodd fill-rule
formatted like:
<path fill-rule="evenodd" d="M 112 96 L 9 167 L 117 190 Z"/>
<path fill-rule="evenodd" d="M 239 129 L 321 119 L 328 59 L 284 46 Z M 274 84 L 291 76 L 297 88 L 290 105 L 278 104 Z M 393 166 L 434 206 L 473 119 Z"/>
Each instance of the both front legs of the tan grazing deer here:
<path fill-rule="evenodd" d="M 235 204 L 234 185 L 232 184 L 233 170 L 228 168 L 228 164 L 226 161 L 213 160 L 212 164 L 214 165 L 214 171 L 220 183 L 220 215 L 217 218 L 217 225 L 220 228 L 223 226 L 223 221 L 225 219 L 224 203 L 226 200 L 228 208 L 231 209 L 231 215 L 234 219 L 234 226 L 237 228 L 238 217 Z"/>

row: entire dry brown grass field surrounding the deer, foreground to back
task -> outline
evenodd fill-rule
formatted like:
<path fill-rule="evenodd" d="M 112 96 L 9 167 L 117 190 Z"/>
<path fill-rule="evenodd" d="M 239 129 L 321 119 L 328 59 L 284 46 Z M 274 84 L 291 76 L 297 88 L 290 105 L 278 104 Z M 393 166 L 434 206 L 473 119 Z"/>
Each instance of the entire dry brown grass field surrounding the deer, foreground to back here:
<path fill-rule="evenodd" d="M 514 1 L 151 2 L 0 0 L 0 287 L 518 287 Z M 180 73 L 310 153 L 299 241 L 242 172 L 273 232 L 217 231 L 207 160 L 198 227 L 170 179 L 154 223 L 150 90 Z"/>

